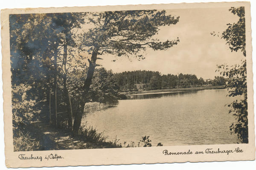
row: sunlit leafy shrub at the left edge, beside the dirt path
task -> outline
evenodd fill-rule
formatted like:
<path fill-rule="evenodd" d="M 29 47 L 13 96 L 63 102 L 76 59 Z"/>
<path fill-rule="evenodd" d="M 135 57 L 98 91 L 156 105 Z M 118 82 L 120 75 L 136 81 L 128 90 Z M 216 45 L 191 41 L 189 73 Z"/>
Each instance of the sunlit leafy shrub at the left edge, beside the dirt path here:
<path fill-rule="evenodd" d="M 32 119 L 40 113 L 36 108 L 36 101 L 27 92 L 32 87 L 20 84 L 12 87 L 12 130 L 14 151 L 37 150 L 39 142 L 29 135 L 28 127 Z"/>

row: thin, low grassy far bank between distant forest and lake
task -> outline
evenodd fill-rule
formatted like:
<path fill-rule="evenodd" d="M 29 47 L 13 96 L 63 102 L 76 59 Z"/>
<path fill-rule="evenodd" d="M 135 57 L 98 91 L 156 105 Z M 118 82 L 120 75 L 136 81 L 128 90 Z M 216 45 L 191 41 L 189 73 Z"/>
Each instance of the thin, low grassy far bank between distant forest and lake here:
<path fill-rule="evenodd" d="M 170 89 L 161 89 L 161 90 L 150 90 L 150 91 L 129 91 L 129 92 L 122 92 L 123 95 L 129 94 L 143 94 L 143 93 L 156 93 L 156 92 L 169 92 L 169 91 L 192 91 L 192 90 L 205 90 L 205 89 L 224 89 L 225 86 L 201 86 L 201 87 L 194 87 L 194 88 L 170 88 Z"/>

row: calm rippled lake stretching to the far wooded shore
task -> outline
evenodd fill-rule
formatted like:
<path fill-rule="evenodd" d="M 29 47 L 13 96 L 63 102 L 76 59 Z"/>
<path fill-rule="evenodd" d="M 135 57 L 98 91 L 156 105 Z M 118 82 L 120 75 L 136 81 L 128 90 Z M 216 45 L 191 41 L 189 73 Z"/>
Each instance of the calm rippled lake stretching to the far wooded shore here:
<path fill-rule="evenodd" d="M 227 89 L 215 89 L 131 95 L 116 107 L 84 113 L 82 123 L 119 143 L 137 144 L 150 136 L 152 146 L 236 144 L 229 128 L 235 118 L 225 107 L 235 98 L 227 94 Z"/>

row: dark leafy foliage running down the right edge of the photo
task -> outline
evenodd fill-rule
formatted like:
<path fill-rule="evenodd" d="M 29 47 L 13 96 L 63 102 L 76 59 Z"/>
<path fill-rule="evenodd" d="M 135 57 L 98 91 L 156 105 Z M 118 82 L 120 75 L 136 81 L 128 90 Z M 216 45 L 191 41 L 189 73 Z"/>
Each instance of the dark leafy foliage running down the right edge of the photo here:
<path fill-rule="evenodd" d="M 237 14 L 239 21 L 234 24 L 227 24 L 228 28 L 222 33 L 222 37 L 227 40 L 231 52 L 239 51 L 246 57 L 245 43 L 245 10 L 241 6 L 239 8 L 231 7 L 233 14 Z M 232 110 L 230 113 L 236 117 L 237 122 L 230 126 L 231 133 L 236 133 L 242 143 L 248 143 L 248 105 L 247 105 L 247 72 L 246 59 L 241 60 L 241 64 L 236 64 L 231 67 L 228 65 L 219 65 L 218 71 L 223 76 L 228 77 L 227 88 L 229 96 L 242 96 L 243 99 L 233 101 L 228 105 Z"/>

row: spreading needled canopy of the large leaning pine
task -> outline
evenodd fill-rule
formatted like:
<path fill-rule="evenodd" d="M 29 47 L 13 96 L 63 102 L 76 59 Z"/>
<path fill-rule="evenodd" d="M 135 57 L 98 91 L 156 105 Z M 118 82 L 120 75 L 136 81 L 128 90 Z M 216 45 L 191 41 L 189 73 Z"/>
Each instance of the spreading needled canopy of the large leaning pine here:
<path fill-rule="evenodd" d="M 166 16 L 166 11 L 106 11 L 88 14 L 88 23 L 93 23 L 84 34 L 79 36 L 81 47 L 89 53 L 98 55 L 137 56 L 146 47 L 154 50 L 166 50 L 177 44 L 177 40 L 160 42 L 154 39 L 160 26 L 176 24 L 179 17 Z"/>

